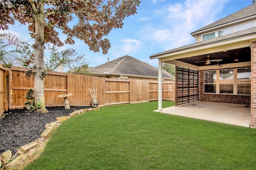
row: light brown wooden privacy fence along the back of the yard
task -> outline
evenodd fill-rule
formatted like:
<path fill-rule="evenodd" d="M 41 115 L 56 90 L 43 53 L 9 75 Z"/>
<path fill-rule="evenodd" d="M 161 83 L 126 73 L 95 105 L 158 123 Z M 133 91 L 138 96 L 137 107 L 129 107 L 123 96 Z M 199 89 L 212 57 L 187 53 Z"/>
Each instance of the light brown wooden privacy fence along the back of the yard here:
<path fill-rule="evenodd" d="M 27 91 L 34 89 L 34 81 L 31 78 L 28 80 L 25 71 L 20 67 L 9 70 L 10 109 L 24 107 Z M 64 99 L 58 98 L 58 95 L 65 93 L 73 94 L 68 97 L 70 106 L 90 106 L 93 102 L 89 92 L 91 88 L 97 89 L 97 102 L 101 106 L 158 100 L 157 81 L 100 78 L 60 72 L 47 74 L 44 78 L 46 106 L 64 106 Z M 163 100 L 174 100 L 174 82 L 163 82 L 162 96 Z"/>

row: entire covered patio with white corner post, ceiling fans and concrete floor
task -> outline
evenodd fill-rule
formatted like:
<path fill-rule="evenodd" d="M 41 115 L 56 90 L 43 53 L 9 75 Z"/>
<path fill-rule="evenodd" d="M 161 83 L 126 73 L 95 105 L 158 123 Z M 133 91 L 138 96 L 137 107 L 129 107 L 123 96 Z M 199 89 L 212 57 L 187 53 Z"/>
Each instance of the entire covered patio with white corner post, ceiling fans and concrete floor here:
<path fill-rule="evenodd" d="M 158 59 L 158 80 L 163 62 L 176 65 L 176 107 L 162 109 L 159 81 L 158 111 L 256 128 L 256 27 L 252 29 L 253 34 L 231 33 L 150 56 Z M 229 73 L 233 77 L 223 77 Z"/>

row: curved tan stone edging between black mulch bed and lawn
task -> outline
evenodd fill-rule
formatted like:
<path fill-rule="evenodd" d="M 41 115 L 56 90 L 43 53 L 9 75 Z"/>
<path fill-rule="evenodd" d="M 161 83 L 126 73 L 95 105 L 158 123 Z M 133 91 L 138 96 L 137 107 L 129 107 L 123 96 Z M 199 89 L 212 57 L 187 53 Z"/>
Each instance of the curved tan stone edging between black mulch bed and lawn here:
<path fill-rule="evenodd" d="M 28 160 L 31 161 L 34 159 L 33 156 L 35 154 L 39 155 L 39 152 L 42 152 L 50 135 L 54 130 L 56 130 L 60 123 L 67 119 L 70 119 L 71 117 L 74 117 L 75 115 L 99 109 L 99 107 L 91 109 L 80 109 L 70 113 L 68 116 L 56 117 L 55 122 L 47 123 L 45 125 L 46 130 L 41 134 L 40 138 L 36 139 L 36 141 L 20 147 L 20 149 L 18 149 L 18 151 L 14 155 L 12 155 L 12 152 L 10 150 L 7 150 L 6 152 L 0 154 L 0 168 L 19 168 L 24 164 L 27 164 Z"/>

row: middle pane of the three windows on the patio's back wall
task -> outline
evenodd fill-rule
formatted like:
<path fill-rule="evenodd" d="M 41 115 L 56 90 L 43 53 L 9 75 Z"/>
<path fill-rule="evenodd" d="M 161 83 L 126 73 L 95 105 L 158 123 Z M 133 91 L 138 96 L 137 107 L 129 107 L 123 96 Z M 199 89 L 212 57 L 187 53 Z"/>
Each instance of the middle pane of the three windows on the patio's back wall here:
<path fill-rule="evenodd" d="M 220 93 L 234 93 L 234 69 L 220 70 Z"/>

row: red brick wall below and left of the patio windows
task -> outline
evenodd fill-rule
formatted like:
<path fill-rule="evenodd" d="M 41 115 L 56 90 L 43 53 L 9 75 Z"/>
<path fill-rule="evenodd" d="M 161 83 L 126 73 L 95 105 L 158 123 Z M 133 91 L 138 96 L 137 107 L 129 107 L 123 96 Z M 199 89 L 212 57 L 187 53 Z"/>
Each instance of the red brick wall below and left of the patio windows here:
<path fill-rule="evenodd" d="M 256 74 L 255 74 L 255 76 L 256 76 Z M 223 103 L 250 105 L 251 96 L 234 95 L 234 94 L 206 94 L 206 93 L 204 93 L 204 70 L 200 70 L 199 71 L 199 101 L 223 102 Z M 256 104 L 255 104 L 255 106 L 256 106 Z"/>

